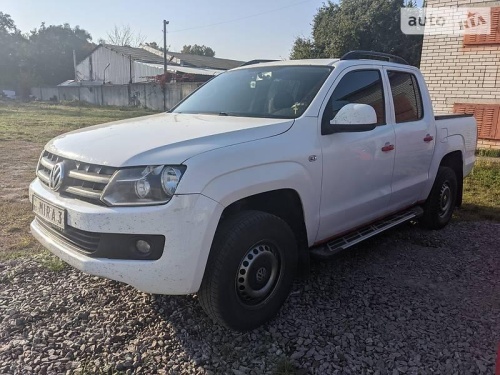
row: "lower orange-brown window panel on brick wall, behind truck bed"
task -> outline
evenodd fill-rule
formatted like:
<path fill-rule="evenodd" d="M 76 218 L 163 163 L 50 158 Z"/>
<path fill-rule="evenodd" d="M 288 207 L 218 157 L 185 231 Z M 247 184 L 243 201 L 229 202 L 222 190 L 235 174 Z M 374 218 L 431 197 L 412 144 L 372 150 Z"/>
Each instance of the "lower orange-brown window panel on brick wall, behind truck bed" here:
<path fill-rule="evenodd" d="M 500 105 L 456 103 L 453 112 L 474 115 L 478 138 L 500 140 Z"/>

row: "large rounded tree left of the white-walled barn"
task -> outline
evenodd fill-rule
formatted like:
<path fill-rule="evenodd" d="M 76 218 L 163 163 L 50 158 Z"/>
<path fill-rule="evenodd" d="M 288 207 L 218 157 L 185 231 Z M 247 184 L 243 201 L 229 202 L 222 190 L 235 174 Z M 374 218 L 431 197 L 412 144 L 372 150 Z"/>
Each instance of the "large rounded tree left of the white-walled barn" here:
<path fill-rule="evenodd" d="M 31 31 L 29 36 L 29 66 L 37 83 L 57 85 L 75 77 L 73 50 L 77 62 L 92 51 L 92 37 L 79 26 L 69 24 L 45 26 Z"/>

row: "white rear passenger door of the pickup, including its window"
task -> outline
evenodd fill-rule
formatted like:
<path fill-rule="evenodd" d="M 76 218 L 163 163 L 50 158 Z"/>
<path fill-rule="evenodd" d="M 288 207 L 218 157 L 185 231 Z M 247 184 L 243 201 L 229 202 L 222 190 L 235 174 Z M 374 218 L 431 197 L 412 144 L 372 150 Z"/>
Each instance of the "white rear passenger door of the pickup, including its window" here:
<path fill-rule="evenodd" d="M 385 71 L 391 101 L 388 121 L 396 132 L 390 210 L 397 211 L 417 203 L 428 182 L 436 129 L 431 111 L 424 112 L 423 80 L 404 68 Z"/>

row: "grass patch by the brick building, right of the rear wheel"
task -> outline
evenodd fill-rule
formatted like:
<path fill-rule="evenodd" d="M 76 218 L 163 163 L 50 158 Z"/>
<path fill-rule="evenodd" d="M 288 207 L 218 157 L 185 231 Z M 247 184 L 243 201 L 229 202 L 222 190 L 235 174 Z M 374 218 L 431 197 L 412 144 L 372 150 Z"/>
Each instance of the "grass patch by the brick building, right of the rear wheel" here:
<path fill-rule="evenodd" d="M 455 216 L 467 221 L 500 222 L 500 159 L 478 158 L 474 170 L 464 180 L 463 206 Z"/>

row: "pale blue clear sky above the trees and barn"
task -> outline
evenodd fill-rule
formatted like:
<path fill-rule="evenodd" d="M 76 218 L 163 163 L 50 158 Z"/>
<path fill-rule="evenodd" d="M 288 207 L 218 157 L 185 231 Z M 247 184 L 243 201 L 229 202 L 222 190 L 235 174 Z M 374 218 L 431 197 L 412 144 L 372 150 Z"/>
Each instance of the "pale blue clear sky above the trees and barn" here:
<path fill-rule="evenodd" d="M 163 20 L 169 50 L 184 45 L 211 47 L 216 57 L 248 61 L 287 59 L 297 37 L 309 37 L 323 0 L 0 0 L 18 29 L 69 23 L 107 38 L 115 25 L 130 25 L 147 42 L 163 45 Z"/>

